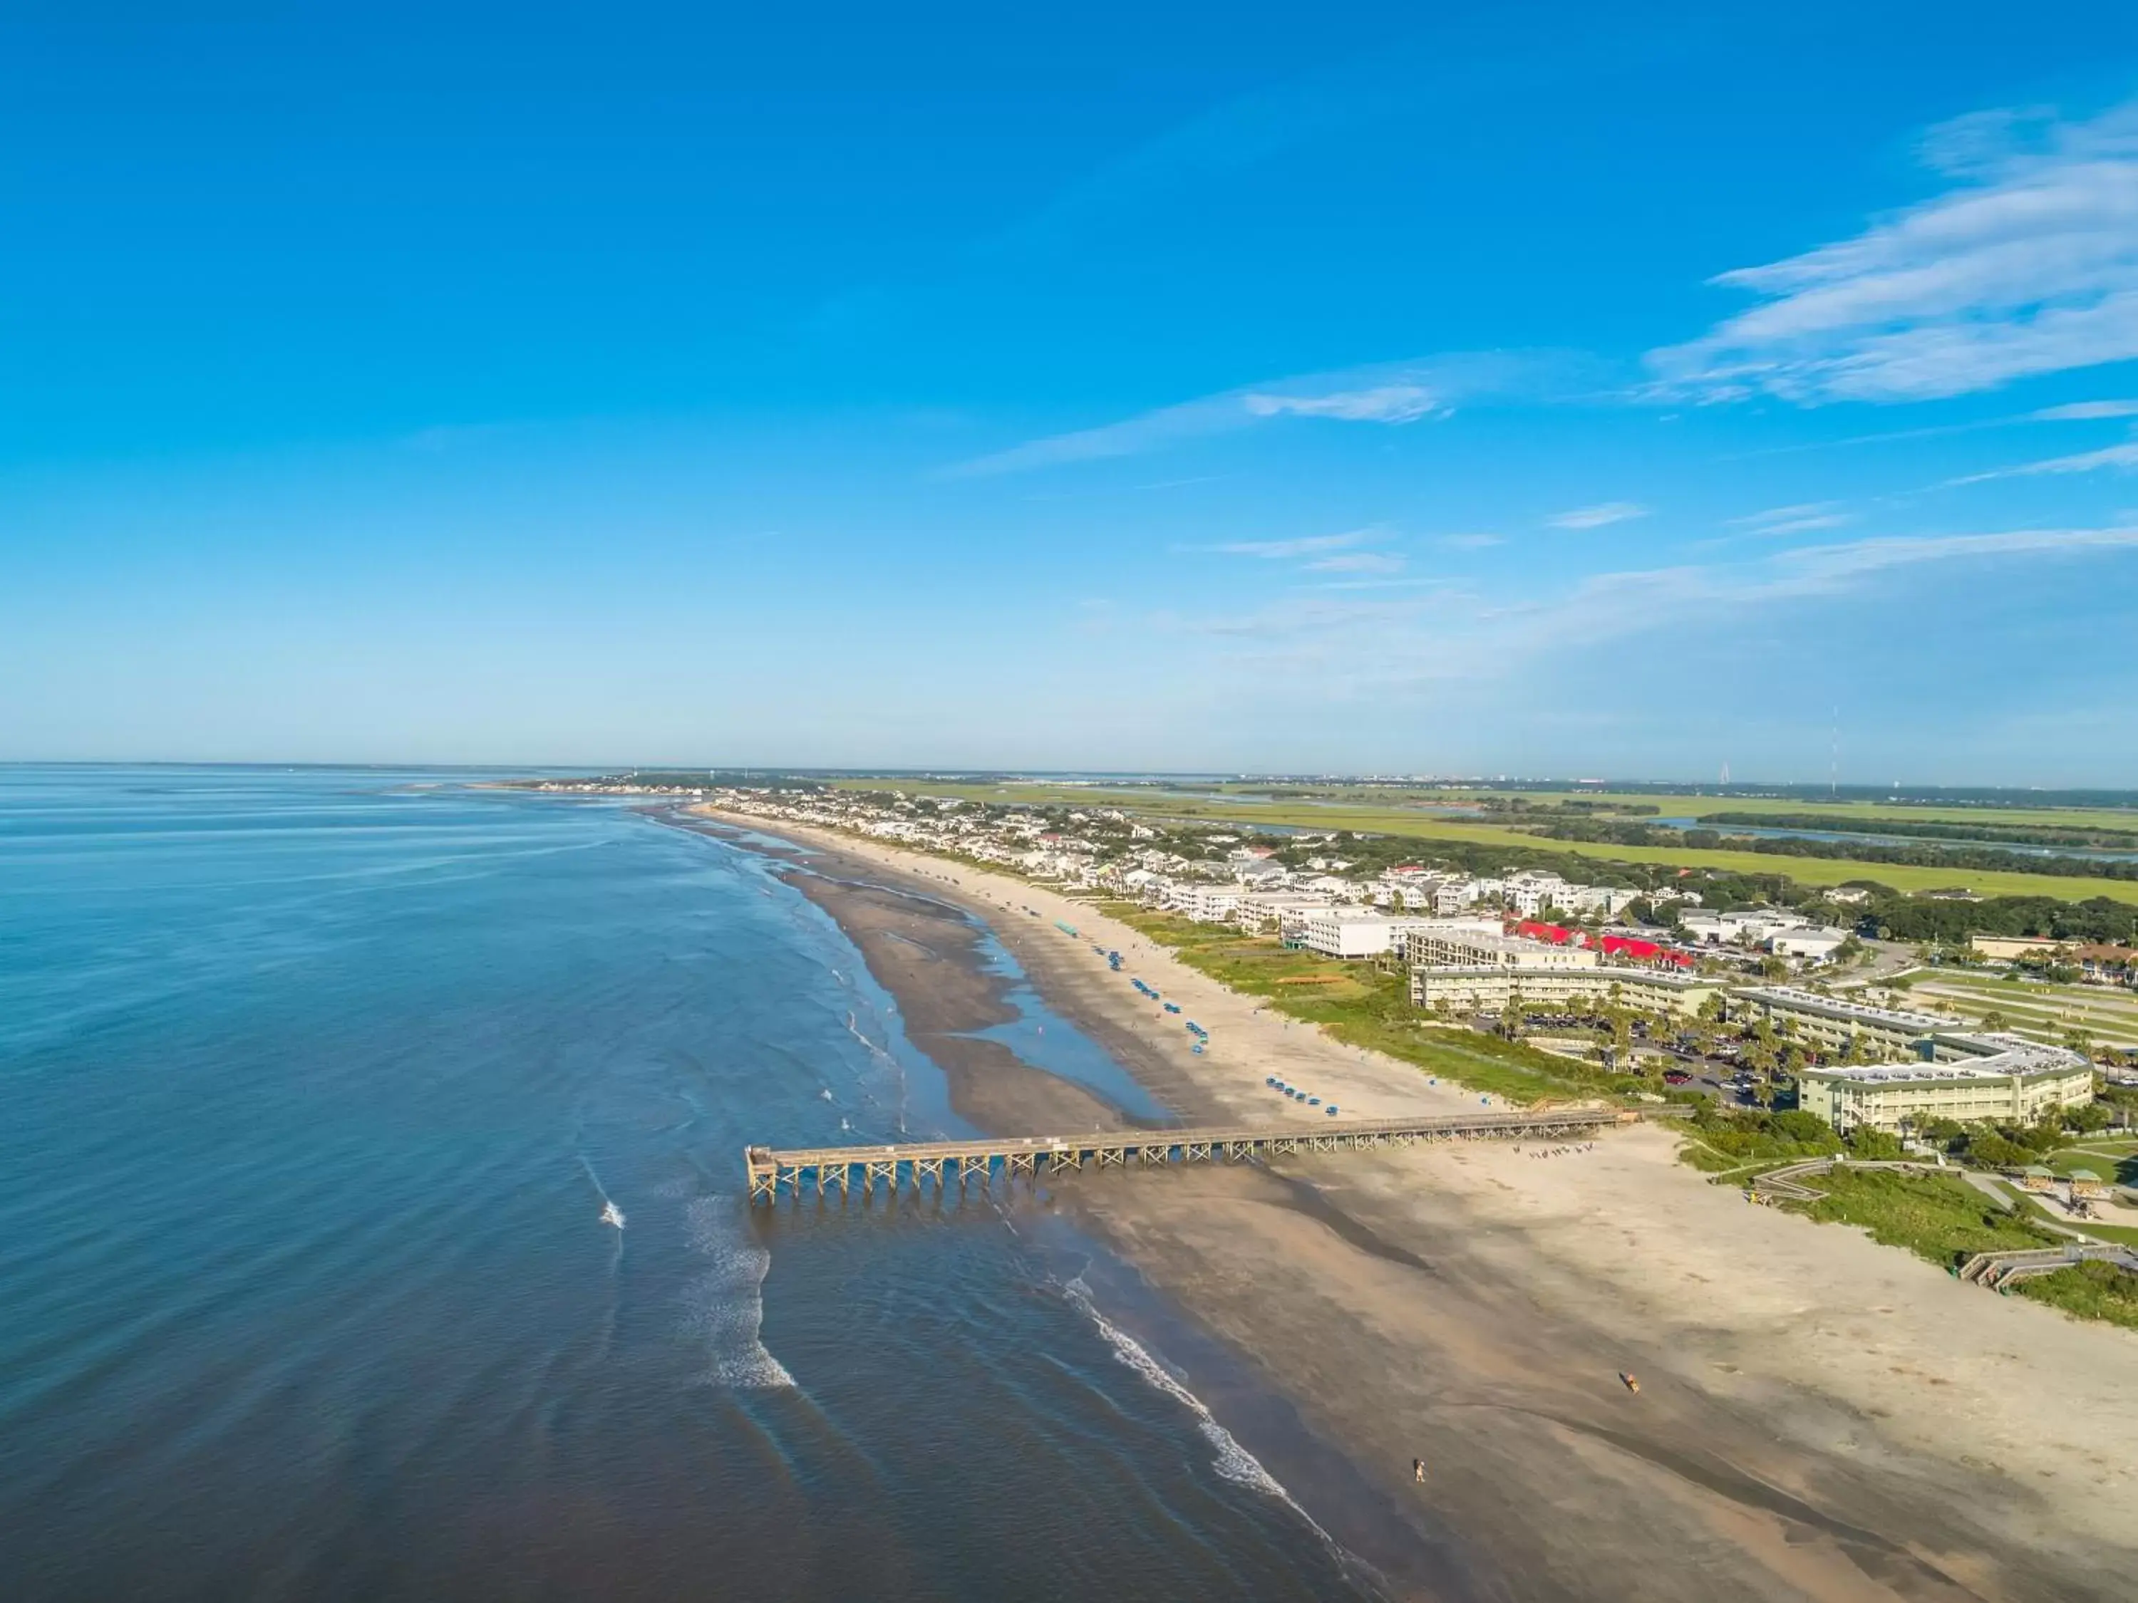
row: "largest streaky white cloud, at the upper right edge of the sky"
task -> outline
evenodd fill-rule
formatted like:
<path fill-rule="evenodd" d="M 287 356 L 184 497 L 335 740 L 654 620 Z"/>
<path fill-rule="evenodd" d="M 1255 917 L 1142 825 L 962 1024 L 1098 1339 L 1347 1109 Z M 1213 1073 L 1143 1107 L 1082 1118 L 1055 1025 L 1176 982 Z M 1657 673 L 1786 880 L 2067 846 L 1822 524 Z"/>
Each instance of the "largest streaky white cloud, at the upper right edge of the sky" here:
<path fill-rule="evenodd" d="M 1933 128 L 1948 192 L 1715 282 L 1764 297 L 1651 353 L 1661 393 L 1901 402 L 2138 357 L 2138 103 Z"/>

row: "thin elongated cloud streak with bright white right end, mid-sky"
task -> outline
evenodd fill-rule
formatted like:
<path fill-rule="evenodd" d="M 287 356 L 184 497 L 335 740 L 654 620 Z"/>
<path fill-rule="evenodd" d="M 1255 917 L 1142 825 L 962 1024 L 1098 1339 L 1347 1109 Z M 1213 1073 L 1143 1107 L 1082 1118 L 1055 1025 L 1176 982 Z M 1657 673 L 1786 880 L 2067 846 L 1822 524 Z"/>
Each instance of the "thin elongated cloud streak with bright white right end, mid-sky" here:
<path fill-rule="evenodd" d="M 1157 451 L 1184 440 L 1268 425 L 1281 419 L 1407 425 L 1447 417 L 1458 404 L 1569 389 L 1593 363 L 1565 353 L 1454 353 L 1345 372 L 1279 378 L 1161 406 L 1073 434 L 1026 440 L 941 470 L 945 479 L 1058 468 L 1073 462 Z"/>

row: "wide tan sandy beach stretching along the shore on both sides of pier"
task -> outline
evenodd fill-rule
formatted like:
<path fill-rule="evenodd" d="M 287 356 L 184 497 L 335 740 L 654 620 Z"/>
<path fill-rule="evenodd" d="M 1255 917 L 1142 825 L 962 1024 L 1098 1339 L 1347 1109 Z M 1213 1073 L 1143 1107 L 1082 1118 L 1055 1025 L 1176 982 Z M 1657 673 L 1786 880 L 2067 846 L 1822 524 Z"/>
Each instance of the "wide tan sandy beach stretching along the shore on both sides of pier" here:
<path fill-rule="evenodd" d="M 1272 1073 L 1358 1116 L 1479 1101 L 1261 1011 L 1088 904 L 847 836 L 776 834 L 817 853 L 825 878 L 797 883 L 986 1129 L 1122 1116 L 960 1039 L 1005 1005 L 971 925 L 939 902 L 983 917 L 1048 1005 L 1182 1118 L 1321 1118 L 1274 1096 Z M 1120 949 L 1127 972 L 1093 943 Z M 1129 975 L 1210 1030 L 1204 1056 Z M 1398 1594 L 2138 1592 L 2138 1338 L 1751 1208 L 1672 1152 L 1670 1133 L 1636 1129 L 1554 1154 L 1475 1143 L 1090 1176 L 1045 1205 L 1116 1246 L 1355 1464 L 1364 1496 L 1291 1492 Z M 1392 1526 L 1465 1584 L 1407 1590 Z"/>

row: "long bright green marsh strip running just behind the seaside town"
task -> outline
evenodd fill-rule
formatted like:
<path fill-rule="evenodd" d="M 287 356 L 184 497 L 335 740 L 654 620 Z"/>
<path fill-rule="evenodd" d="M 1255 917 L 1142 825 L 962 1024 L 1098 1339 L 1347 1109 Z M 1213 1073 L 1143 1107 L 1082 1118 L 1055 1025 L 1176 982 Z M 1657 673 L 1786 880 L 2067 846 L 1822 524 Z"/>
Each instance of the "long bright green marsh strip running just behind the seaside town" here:
<path fill-rule="evenodd" d="M 1516 846 L 1524 851 L 1567 853 L 1612 863 L 1648 863 L 1661 868 L 1715 868 L 1730 874 L 1781 874 L 1800 885 L 1843 885 L 1856 878 L 1877 881 L 1896 891 L 1935 891 L 1965 885 L 1978 896 L 2048 896 L 2082 902 L 2108 896 L 2138 904 L 2138 881 L 2063 878 L 2057 874 L 2016 874 L 1963 868 L 1916 868 L 1907 863 L 1866 863 L 1852 857 L 1768 857 L 1755 851 L 1695 851 L 1691 846 L 1614 846 L 1589 840 L 1544 840 L 1501 823 L 1437 819 L 1394 806 L 1315 806 L 1308 802 L 1223 802 L 1159 797 L 1137 789 L 1105 789 L 1082 784 L 973 784 L 966 780 L 840 780 L 847 789 L 902 789 L 909 795 L 956 795 L 969 802 L 1024 802 L 1033 806 L 1120 808 L 1150 819 L 1184 819 L 1206 825 L 1287 825 L 1304 829 L 1353 829 L 1381 836 L 1411 836 L 1420 842 L 1471 842 L 1479 846 Z M 1689 797 L 1698 799 L 1698 797 Z M 2117 814 L 2123 816 L 2123 814 Z"/>

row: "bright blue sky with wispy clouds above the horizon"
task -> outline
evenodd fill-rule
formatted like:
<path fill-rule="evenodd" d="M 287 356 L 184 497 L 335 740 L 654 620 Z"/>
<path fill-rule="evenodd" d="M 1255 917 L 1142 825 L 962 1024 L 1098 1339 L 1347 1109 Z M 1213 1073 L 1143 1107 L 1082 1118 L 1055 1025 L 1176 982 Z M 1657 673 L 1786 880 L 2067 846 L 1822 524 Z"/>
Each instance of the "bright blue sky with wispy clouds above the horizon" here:
<path fill-rule="evenodd" d="M 2129 4 L 81 0 L 0 147 L 0 761 L 2138 784 Z"/>

